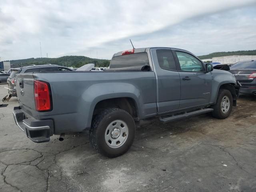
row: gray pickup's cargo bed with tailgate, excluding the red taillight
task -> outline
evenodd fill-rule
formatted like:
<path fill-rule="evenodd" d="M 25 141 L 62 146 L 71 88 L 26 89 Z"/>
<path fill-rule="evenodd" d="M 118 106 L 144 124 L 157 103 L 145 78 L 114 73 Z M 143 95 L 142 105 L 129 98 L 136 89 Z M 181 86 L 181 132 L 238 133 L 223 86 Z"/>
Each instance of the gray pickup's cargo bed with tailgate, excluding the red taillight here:
<path fill-rule="evenodd" d="M 36 111 L 34 80 L 50 84 L 51 111 Z M 23 88 L 18 86 L 20 82 L 23 82 Z M 157 112 L 156 78 L 153 71 L 20 74 L 17 78 L 17 92 L 20 90 L 24 91 L 24 96 L 19 96 L 20 109 L 31 118 L 54 120 L 54 134 L 71 130 L 80 132 L 89 128 L 96 104 L 113 96 L 133 98 L 140 104 L 137 107 L 142 118 L 154 116 Z"/>

